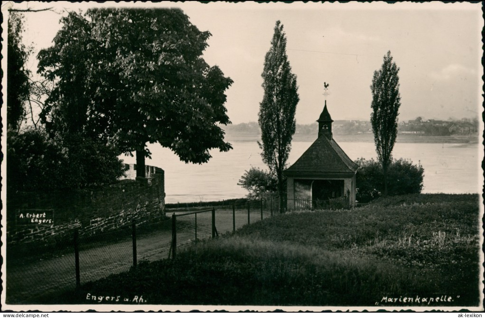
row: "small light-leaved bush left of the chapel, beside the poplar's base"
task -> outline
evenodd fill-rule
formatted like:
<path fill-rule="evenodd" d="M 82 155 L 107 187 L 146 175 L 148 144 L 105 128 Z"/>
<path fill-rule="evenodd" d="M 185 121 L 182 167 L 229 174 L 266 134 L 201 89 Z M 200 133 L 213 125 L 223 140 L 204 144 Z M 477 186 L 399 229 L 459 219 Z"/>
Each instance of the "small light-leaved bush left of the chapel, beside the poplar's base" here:
<path fill-rule="evenodd" d="M 249 192 L 248 198 L 257 199 L 267 197 L 276 192 L 278 180 L 275 175 L 256 167 L 246 170 L 238 182 Z"/>

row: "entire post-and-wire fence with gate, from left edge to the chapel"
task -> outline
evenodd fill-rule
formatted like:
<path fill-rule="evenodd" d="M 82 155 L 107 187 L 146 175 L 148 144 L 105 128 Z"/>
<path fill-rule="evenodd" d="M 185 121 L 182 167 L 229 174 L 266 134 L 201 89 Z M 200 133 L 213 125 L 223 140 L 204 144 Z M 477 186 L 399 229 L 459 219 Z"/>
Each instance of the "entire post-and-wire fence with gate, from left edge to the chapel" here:
<path fill-rule="evenodd" d="M 166 216 L 133 219 L 101 233 L 80 235 L 75 227 L 63 240 L 7 243 L 6 302 L 35 303 L 46 295 L 126 272 L 140 261 L 176 257 L 185 244 L 272 217 L 279 214 L 279 206 L 278 198 L 268 198 L 185 209 L 189 211 L 167 209 Z"/>

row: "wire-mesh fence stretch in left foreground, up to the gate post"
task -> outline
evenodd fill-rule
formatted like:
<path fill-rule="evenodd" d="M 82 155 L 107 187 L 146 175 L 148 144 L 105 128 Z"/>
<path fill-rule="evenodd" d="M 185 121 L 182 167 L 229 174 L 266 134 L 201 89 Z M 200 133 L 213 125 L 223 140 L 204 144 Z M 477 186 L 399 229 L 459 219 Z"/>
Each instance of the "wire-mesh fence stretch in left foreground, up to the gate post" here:
<path fill-rule="evenodd" d="M 131 226 L 95 235 L 80 236 L 74 228 L 66 237 L 56 243 L 32 242 L 7 248 L 7 303 L 30 303 L 50 293 L 126 272 L 143 260 L 168 258 L 172 227 L 167 217 L 150 222 L 135 219 Z"/>

